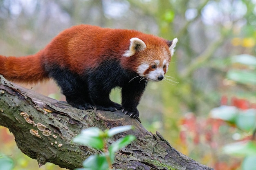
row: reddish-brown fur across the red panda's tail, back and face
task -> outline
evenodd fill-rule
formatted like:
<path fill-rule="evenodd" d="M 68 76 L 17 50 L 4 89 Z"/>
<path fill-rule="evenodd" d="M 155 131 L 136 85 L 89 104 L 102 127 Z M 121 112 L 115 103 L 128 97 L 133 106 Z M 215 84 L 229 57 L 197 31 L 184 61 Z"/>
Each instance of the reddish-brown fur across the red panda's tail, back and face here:
<path fill-rule="evenodd" d="M 124 57 L 124 52 L 129 49 L 130 38 L 133 37 L 143 40 L 147 48 L 132 57 Z M 35 55 L 25 57 L 0 55 L 0 74 L 12 81 L 34 83 L 48 78 L 43 65 L 55 63 L 69 68 L 74 73 L 82 74 L 85 68 L 93 69 L 99 63 L 108 60 L 106 56 L 118 58 L 123 68 L 134 71 L 146 60 L 166 59 L 166 55 L 162 54 L 163 51 L 168 53 L 167 62 L 170 62 L 171 55 L 166 40 L 162 38 L 135 30 L 78 25 L 64 30 L 45 49 Z M 111 55 L 108 55 L 109 53 Z"/>

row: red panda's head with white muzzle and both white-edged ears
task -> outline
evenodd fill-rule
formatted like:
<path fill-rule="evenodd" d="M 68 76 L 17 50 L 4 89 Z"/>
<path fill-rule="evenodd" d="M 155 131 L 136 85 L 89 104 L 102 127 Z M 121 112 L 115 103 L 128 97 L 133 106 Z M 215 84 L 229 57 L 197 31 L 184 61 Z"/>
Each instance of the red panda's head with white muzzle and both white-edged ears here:
<path fill-rule="evenodd" d="M 160 38 L 151 38 L 144 41 L 139 38 L 131 38 L 129 50 L 125 51 L 123 56 L 135 57 L 133 64 L 135 71 L 140 76 L 153 82 L 161 81 L 168 71 L 178 39 L 166 41 Z"/>

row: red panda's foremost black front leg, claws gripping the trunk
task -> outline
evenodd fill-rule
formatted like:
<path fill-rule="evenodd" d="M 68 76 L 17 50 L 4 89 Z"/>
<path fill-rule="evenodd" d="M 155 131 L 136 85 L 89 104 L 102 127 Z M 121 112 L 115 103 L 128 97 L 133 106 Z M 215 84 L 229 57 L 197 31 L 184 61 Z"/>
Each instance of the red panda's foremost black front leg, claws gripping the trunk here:
<path fill-rule="evenodd" d="M 145 82 L 138 84 L 127 84 L 122 87 L 122 112 L 132 118 L 139 117 L 137 106 L 145 90 Z"/>

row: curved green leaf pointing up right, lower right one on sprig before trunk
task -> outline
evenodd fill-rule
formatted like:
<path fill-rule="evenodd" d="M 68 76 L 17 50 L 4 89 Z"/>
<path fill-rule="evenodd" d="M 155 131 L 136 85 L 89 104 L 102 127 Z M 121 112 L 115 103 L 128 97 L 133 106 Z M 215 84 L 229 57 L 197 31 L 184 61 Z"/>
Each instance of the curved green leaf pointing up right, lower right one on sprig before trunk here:
<path fill-rule="evenodd" d="M 122 138 L 118 139 L 113 144 L 111 144 L 111 146 L 109 147 L 109 154 L 110 154 L 111 161 L 114 161 L 114 159 L 115 159 L 115 152 L 117 150 L 119 150 L 119 149 L 125 147 L 126 145 L 130 144 L 135 139 L 136 139 L 135 136 L 128 135 L 126 137 L 122 137 Z"/>

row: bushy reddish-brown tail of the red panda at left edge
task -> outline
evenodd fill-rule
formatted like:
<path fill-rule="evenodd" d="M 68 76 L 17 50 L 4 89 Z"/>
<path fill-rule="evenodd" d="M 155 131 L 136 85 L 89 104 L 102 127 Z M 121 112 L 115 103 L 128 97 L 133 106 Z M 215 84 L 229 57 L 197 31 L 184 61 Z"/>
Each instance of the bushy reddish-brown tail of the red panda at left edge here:
<path fill-rule="evenodd" d="M 0 74 L 13 82 L 42 82 L 48 78 L 43 66 L 42 55 L 42 52 L 24 57 L 0 55 Z"/>

